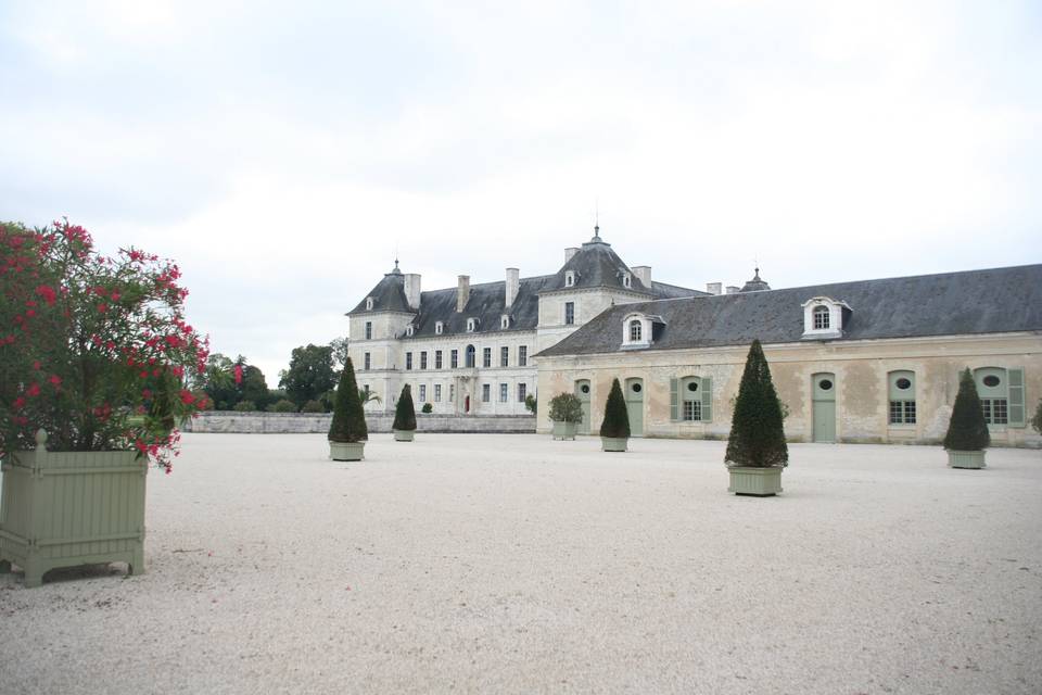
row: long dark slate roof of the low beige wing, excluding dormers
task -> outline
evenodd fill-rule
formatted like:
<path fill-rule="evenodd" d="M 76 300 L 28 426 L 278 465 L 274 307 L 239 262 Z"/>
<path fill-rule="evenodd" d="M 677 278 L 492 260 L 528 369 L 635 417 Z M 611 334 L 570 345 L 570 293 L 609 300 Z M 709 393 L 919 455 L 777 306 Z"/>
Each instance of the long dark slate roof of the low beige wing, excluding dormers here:
<path fill-rule="evenodd" d="M 852 309 L 836 341 L 1042 331 L 1042 265 L 1027 265 L 620 304 L 539 355 L 614 352 L 631 312 L 665 321 L 646 350 L 800 342 L 802 304 L 815 296 Z"/>

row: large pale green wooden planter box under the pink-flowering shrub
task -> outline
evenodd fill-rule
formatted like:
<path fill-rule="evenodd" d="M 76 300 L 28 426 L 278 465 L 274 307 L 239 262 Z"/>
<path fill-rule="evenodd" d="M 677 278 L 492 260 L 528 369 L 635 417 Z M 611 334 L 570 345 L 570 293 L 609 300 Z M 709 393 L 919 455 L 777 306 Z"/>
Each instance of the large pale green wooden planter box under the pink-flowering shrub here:
<path fill-rule="evenodd" d="M 144 573 L 148 458 L 128 452 L 15 452 L 0 465 L 0 571 L 39 586 L 58 567 L 126 563 Z"/>

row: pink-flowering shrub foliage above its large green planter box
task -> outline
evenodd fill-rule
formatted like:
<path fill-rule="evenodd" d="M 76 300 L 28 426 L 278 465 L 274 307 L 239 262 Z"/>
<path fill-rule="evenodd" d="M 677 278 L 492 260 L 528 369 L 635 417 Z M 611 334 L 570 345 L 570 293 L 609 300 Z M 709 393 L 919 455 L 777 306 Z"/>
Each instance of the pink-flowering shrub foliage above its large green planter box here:
<path fill-rule="evenodd" d="M 185 321 L 168 261 L 100 255 L 67 220 L 0 223 L 0 455 L 136 448 L 170 470 L 177 424 L 206 404 L 186 388 L 207 341 Z"/>

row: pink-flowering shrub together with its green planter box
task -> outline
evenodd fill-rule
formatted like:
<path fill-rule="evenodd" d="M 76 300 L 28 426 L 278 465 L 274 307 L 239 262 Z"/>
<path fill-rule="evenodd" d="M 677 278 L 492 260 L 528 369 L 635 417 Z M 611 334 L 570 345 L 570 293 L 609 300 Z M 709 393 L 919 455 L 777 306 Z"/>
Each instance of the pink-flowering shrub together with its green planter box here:
<path fill-rule="evenodd" d="M 170 471 L 206 343 L 185 323 L 177 266 L 98 254 L 68 220 L 0 223 L 0 572 L 144 572 L 145 473 Z"/>

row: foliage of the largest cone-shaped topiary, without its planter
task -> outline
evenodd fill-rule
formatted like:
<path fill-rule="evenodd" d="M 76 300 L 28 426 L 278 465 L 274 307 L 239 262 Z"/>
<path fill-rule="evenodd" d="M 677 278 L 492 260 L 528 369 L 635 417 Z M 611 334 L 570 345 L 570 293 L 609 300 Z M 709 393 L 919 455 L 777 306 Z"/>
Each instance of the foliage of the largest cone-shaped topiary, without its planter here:
<path fill-rule="evenodd" d="M 754 340 L 738 386 L 724 463 L 752 468 L 787 466 L 789 447 L 785 443 L 783 420 L 782 402 L 771 380 L 771 367 L 763 346 Z"/>

